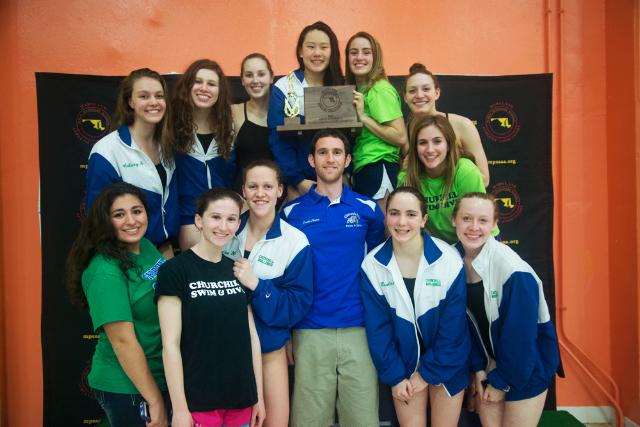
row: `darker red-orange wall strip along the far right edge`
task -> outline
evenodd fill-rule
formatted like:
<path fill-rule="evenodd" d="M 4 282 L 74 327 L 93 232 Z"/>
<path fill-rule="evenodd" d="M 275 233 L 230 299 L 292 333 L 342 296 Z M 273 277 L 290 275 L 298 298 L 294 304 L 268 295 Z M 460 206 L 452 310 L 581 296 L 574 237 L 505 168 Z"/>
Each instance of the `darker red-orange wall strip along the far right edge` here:
<path fill-rule="evenodd" d="M 636 398 L 625 406 L 625 413 L 632 419 L 640 420 L 638 387 L 640 366 L 638 366 L 638 286 L 626 286 L 629 278 L 638 269 L 638 259 L 629 258 L 628 253 L 637 253 L 636 233 L 627 235 L 630 225 L 636 224 L 638 212 L 629 209 L 629 189 L 623 183 L 634 183 L 638 170 L 636 158 L 630 156 L 636 144 L 619 144 L 629 138 L 628 125 L 635 121 L 635 107 L 638 89 L 634 89 L 638 69 L 627 66 L 634 57 L 634 18 L 637 19 L 638 2 L 626 0 L 610 2 L 605 8 L 607 70 L 607 166 L 609 171 L 607 192 L 611 220 L 609 221 L 609 283 L 611 284 L 611 349 L 613 376 L 618 378 L 623 396 L 635 394 Z M 629 13 L 633 11 L 635 13 Z M 636 27 L 637 31 L 637 27 Z M 615 47 L 615 48 L 613 48 Z M 634 72 L 635 71 L 635 72 Z M 629 126 L 631 129 L 634 127 Z M 633 141 L 633 140 L 632 140 Z M 636 142 L 638 134 L 636 134 Z M 637 194 L 637 188 L 636 188 Z M 631 204 L 634 207 L 634 204 Z M 617 308 L 624 307 L 624 310 Z M 619 333 L 625 331 L 625 333 Z M 635 340 L 630 339 L 633 336 Z M 626 403 L 626 402 L 625 402 Z"/>

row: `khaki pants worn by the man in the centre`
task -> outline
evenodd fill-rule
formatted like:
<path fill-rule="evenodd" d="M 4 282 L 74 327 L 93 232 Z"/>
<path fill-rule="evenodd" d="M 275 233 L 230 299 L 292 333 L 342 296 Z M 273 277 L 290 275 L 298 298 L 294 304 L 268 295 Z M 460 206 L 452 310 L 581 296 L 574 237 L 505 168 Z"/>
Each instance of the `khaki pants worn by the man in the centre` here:
<path fill-rule="evenodd" d="M 378 427 L 378 373 L 364 328 L 295 329 L 292 427 Z"/>

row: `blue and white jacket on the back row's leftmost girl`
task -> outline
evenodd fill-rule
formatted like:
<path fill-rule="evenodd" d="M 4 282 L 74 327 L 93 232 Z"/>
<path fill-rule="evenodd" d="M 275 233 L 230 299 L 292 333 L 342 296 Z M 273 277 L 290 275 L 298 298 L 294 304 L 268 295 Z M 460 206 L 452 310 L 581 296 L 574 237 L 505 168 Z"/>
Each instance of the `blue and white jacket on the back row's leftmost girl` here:
<path fill-rule="evenodd" d="M 149 226 L 145 237 L 154 244 L 178 236 L 178 186 L 175 166 L 163 165 L 167 186 L 162 181 L 149 156 L 131 137 L 125 125 L 96 142 L 89 154 L 86 192 L 87 209 L 105 187 L 125 181 L 142 189 L 149 205 Z"/>

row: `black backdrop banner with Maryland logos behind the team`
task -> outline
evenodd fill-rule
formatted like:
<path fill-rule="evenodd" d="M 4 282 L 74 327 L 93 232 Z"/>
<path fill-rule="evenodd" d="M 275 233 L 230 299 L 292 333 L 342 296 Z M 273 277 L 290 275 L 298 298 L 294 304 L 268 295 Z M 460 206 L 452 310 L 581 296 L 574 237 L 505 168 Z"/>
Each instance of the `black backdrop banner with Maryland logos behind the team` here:
<path fill-rule="evenodd" d="M 176 75 L 165 76 L 172 87 Z M 87 384 L 97 335 L 87 312 L 68 301 L 64 262 L 84 218 L 84 182 L 93 144 L 109 132 L 121 77 L 36 73 L 42 236 L 42 354 L 44 425 L 102 422 Z M 229 78 L 235 99 L 246 96 Z M 400 93 L 403 78 L 391 77 Z M 489 159 L 498 198 L 501 239 L 531 264 L 544 283 L 552 317 L 553 187 L 550 74 L 439 76 L 438 109 L 469 117 Z M 404 106 L 406 108 L 406 106 Z M 406 111 L 405 111 L 406 112 Z M 548 407 L 555 407 L 550 390 Z M 388 391 L 380 400 L 381 425 L 397 425 Z M 464 420 L 461 424 L 475 425 Z"/>

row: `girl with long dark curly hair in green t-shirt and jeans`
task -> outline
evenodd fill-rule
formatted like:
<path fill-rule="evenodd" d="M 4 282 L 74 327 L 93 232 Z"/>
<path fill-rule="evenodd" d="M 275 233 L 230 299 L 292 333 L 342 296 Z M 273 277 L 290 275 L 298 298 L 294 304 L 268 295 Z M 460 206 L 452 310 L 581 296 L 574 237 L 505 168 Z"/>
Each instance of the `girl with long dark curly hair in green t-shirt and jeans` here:
<path fill-rule="evenodd" d="M 145 193 L 119 182 L 94 200 L 67 258 L 72 301 L 89 309 L 99 334 L 89 385 L 113 427 L 167 425 L 162 342 L 153 286 L 164 262 L 144 235 Z"/>

